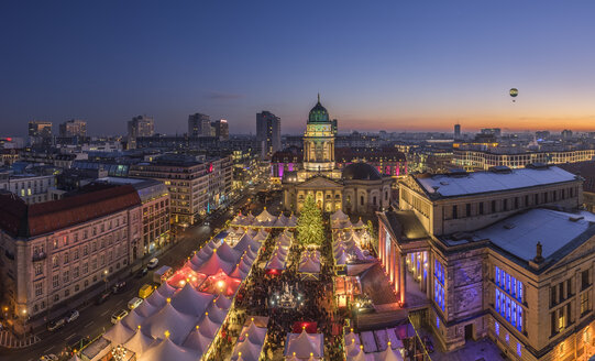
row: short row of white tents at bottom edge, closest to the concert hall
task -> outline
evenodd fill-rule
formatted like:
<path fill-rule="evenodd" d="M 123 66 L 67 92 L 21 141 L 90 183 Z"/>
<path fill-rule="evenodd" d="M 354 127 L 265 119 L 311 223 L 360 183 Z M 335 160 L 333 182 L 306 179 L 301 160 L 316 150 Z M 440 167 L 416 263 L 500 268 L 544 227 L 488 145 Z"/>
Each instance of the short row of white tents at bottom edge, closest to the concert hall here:
<path fill-rule="evenodd" d="M 346 333 L 345 357 L 348 361 L 403 361 L 403 341 L 394 329 Z"/>

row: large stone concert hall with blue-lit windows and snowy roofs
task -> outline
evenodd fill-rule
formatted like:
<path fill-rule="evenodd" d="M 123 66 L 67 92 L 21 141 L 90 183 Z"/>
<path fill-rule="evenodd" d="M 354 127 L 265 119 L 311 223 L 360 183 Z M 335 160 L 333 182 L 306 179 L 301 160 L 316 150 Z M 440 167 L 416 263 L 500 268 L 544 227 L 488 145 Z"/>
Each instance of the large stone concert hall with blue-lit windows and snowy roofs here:
<path fill-rule="evenodd" d="M 409 176 L 378 214 L 378 254 L 404 308 L 407 283 L 426 294 L 447 350 L 488 337 L 513 360 L 575 360 L 595 352 L 581 204 L 582 179 L 558 167 Z"/>

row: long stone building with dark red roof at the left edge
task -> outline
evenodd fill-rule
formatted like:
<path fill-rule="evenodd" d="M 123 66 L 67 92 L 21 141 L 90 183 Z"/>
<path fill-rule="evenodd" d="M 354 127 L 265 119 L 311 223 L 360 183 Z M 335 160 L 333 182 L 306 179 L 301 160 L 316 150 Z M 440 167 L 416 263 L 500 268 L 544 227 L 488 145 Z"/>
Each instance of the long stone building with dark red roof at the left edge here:
<path fill-rule="evenodd" d="M 3 296 L 16 330 L 142 255 L 141 201 L 132 186 L 35 205 L 0 197 Z"/>

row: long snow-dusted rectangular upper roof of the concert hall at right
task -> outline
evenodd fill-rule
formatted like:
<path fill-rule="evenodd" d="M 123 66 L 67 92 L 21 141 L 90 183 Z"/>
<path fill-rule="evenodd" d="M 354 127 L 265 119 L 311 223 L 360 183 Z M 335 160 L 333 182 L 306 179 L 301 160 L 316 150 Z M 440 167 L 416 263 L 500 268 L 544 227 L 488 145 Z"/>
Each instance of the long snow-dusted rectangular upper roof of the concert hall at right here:
<path fill-rule="evenodd" d="M 417 177 L 416 179 L 430 195 L 459 197 L 571 182 L 575 180 L 576 176 L 557 166 L 550 166 L 511 169 L 502 173 L 473 172 L 462 176 L 440 174 L 427 178 Z"/>

